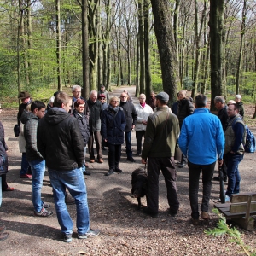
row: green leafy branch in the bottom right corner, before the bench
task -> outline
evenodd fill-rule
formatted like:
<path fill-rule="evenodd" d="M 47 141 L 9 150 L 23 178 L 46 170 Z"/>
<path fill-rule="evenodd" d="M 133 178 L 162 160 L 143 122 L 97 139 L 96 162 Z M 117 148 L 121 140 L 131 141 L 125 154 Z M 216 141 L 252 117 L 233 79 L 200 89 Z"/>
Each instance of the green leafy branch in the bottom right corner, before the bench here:
<path fill-rule="evenodd" d="M 235 227 L 230 228 L 230 226 L 226 223 L 226 218 L 218 212 L 218 209 L 212 209 L 212 212 L 218 215 L 219 221 L 217 227 L 214 229 L 205 230 L 207 235 L 212 236 L 230 236 L 230 242 L 235 242 L 239 247 L 241 247 L 242 251 L 248 256 L 256 255 L 256 250 L 253 250 L 251 247 L 248 247 L 244 241 L 241 239 L 241 233 L 236 230 Z"/>

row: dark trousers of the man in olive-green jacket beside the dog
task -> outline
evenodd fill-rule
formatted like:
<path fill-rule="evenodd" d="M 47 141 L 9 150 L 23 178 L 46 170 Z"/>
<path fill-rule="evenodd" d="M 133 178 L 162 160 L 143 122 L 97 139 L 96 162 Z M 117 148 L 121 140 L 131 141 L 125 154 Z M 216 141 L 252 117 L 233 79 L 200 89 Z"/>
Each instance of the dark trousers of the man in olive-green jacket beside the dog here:
<path fill-rule="evenodd" d="M 159 174 L 162 171 L 167 188 L 167 199 L 171 212 L 177 212 L 179 202 L 177 200 L 175 163 L 169 157 L 148 158 L 148 208 L 157 213 L 159 207 Z"/>

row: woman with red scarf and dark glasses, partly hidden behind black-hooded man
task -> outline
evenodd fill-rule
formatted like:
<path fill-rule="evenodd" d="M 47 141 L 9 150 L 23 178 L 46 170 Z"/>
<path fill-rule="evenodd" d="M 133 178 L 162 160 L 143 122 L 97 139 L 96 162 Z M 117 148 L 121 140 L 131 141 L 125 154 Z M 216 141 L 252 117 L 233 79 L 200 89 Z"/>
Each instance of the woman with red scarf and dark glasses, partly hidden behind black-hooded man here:
<path fill-rule="evenodd" d="M 80 128 L 82 137 L 84 139 L 84 154 L 85 154 L 86 145 L 90 138 L 90 130 L 89 130 L 88 118 L 86 114 L 84 114 L 84 108 L 85 108 L 84 100 L 78 99 L 76 102 L 74 102 L 73 116 L 76 119 L 78 119 L 78 122 L 79 122 L 79 128 Z M 84 172 L 84 175 L 90 175 L 90 172 L 86 171 L 85 161 L 84 161 L 84 165 L 82 166 L 82 171 Z"/>

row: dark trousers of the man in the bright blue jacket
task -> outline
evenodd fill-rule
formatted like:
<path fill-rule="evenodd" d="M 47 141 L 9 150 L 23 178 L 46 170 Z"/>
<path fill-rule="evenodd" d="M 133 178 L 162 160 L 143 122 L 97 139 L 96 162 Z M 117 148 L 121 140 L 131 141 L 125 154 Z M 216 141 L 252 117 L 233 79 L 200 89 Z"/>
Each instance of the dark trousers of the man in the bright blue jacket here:
<path fill-rule="evenodd" d="M 192 218 L 198 219 L 198 189 L 200 172 L 202 171 L 203 197 L 201 201 L 201 211 L 208 212 L 209 200 L 212 191 L 212 176 L 216 162 L 211 165 L 195 165 L 188 162 L 189 166 L 189 201 L 192 210 Z"/>

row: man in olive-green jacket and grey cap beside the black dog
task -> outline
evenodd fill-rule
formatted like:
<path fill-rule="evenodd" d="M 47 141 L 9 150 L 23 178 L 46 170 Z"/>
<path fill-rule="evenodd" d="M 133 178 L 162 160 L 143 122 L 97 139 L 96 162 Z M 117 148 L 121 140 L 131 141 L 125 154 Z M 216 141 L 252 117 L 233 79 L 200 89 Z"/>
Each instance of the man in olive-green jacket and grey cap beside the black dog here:
<path fill-rule="evenodd" d="M 160 92 L 156 98 L 157 111 L 148 117 L 146 134 L 143 144 L 142 163 L 148 159 L 148 207 L 144 212 L 151 217 L 157 217 L 159 207 L 159 174 L 160 169 L 165 177 L 167 199 L 170 214 L 177 214 L 179 202 L 177 201 L 174 153 L 179 136 L 177 116 L 168 112 L 167 102 L 169 96 Z"/>

